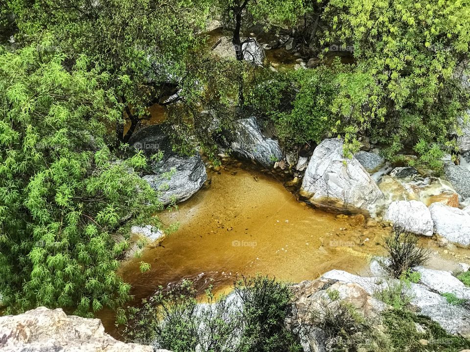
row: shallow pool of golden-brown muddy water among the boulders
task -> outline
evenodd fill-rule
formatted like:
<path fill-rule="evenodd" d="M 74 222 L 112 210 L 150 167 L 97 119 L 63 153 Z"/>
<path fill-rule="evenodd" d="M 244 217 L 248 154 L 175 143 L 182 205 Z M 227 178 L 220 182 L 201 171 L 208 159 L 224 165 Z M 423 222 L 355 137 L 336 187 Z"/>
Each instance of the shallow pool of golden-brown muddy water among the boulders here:
<path fill-rule="evenodd" d="M 159 214 L 165 223 L 178 222 L 178 230 L 122 264 L 119 273 L 133 287 L 134 304 L 183 279 L 220 291 L 237 275 L 300 282 L 331 269 L 361 274 L 382 252 L 379 242 L 388 229 L 313 209 L 273 176 L 231 167 L 209 177 L 211 184 L 178 210 Z M 141 261 L 151 270 L 141 273 Z M 99 317 L 116 336 L 113 314 Z"/>

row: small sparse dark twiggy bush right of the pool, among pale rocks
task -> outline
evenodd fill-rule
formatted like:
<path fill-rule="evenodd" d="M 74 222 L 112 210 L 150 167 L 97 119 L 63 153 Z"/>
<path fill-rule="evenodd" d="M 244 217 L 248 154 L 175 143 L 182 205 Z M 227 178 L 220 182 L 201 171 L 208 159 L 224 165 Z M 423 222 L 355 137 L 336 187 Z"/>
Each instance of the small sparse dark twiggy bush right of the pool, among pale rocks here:
<path fill-rule="evenodd" d="M 425 264 L 429 258 L 429 250 L 418 242 L 415 235 L 395 228 L 384 240 L 383 247 L 388 256 L 380 260 L 379 264 L 394 278 L 409 273 L 409 270 L 415 266 Z"/>

